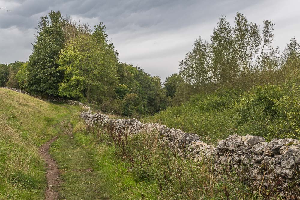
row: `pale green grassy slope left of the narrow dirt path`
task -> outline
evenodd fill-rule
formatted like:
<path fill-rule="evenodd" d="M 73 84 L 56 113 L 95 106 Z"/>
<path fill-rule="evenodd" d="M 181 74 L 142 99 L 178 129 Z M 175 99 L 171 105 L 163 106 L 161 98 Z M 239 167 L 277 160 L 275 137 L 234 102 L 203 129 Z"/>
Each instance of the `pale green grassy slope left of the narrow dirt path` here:
<path fill-rule="evenodd" d="M 45 163 L 38 147 L 57 136 L 59 122 L 78 109 L 0 88 L 0 199 L 44 199 Z"/>

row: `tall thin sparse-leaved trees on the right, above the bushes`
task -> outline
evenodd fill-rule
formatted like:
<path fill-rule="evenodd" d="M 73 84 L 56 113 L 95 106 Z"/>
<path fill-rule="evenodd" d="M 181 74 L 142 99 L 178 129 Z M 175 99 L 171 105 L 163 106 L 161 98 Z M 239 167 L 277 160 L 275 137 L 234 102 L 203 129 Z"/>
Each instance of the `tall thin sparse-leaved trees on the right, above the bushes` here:
<path fill-rule="evenodd" d="M 296 81 L 300 44 L 292 38 L 279 52 L 278 46 L 272 46 L 273 31 L 271 20 L 264 20 L 261 28 L 237 13 L 231 26 L 221 15 L 210 41 L 196 39 L 180 62 L 179 74 L 168 77 L 165 86 L 172 88 L 173 103 L 178 105 L 192 94 L 218 88 L 248 90 L 256 85 Z"/>

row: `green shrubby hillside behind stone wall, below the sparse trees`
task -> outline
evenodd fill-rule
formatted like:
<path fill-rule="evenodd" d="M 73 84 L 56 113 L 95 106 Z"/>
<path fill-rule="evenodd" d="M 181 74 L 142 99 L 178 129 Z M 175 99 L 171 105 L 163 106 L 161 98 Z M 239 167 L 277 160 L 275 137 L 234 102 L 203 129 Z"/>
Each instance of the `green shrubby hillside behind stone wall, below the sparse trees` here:
<path fill-rule="evenodd" d="M 195 132 L 203 141 L 216 144 L 231 134 L 299 139 L 299 119 L 300 87 L 282 84 L 197 94 L 142 121 Z"/>

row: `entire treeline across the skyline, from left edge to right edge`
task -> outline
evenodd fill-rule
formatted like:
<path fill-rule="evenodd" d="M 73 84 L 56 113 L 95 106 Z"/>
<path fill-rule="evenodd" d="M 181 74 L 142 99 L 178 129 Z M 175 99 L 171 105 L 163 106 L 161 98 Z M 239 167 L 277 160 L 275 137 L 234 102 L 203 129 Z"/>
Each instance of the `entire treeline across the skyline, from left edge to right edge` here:
<path fill-rule="evenodd" d="M 33 94 L 92 103 L 127 117 L 153 115 L 190 96 L 219 88 L 298 81 L 300 44 L 292 38 L 283 52 L 272 46 L 274 23 L 263 27 L 237 13 L 234 25 L 220 16 L 210 41 L 196 39 L 164 84 L 140 67 L 119 61 L 101 22 L 92 30 L 59 11 L 41 17 L 29 61 L 0 65 L 0 86 Z"/>

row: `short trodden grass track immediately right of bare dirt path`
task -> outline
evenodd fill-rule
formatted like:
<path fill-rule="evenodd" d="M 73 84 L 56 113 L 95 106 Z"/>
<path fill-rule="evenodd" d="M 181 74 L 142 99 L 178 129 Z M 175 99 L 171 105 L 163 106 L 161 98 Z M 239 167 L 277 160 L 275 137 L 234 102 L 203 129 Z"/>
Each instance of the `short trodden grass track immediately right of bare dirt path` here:
<path fill-rule="evenodd" d="M 58 199 L 112 199 L 114 187 L 97 166 L 94 149 L 72 134 L 64 134 L 52 143 L 50 154 L 62 180 Z"/>

